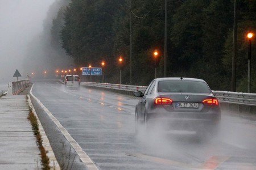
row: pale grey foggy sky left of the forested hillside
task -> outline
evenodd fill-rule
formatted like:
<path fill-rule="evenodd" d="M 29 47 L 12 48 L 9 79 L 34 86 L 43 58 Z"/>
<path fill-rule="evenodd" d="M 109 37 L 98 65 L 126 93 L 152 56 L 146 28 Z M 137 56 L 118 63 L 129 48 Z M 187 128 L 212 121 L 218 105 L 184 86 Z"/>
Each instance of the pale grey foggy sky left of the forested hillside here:
<path fill-rule="evenodd" d="M 14 81 L 15 70 L 26 79 L 23 68 L 28 45 L 43 32 L 49 7 L 55 0 L 0 0 L 0 84 Z M 41 35 L 42 36 L 42 35 Z"/>

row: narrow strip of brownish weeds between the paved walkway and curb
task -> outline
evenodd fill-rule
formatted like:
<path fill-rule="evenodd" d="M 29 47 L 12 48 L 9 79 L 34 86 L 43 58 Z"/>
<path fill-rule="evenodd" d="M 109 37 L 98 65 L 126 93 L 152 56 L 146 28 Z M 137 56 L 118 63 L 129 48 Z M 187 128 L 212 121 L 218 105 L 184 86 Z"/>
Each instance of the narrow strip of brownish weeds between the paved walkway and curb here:
<path fill-rule="evenodd" d="M 42 145 L 42 136 L 39 132 L 39 124 L 38 124 L 38 120 L 36 119 L 34 113 L 32 112 L 31 108 L 30 108 L 30 112 L 28 113 L 28 120 L 30 120 L 30 123 L 32 125 L 32 129 L 34 131 L 34 134 L 36 136 L 36 143 L 38 144 L 38 148 L 40 150 L 40 154 L 41 154 L 41 163 L 42 163 L 42 169 L 43 170 L 49 170 L 51 169 L 49 167 L 49 158 L 46 155 L 47 152 L 44 149 L 43 145 Z"/>

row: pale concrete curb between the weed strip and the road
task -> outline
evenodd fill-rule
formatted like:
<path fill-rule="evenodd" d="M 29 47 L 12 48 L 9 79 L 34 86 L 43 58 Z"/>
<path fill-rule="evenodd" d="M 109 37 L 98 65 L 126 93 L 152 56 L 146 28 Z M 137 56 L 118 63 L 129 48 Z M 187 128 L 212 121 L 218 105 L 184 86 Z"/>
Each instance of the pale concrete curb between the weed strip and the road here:
<path fill-rule="evenodd" d="M 52 150 L 51 144 L 49 143 L 49 139 L 47 138 L 46 132 L 44 131 L 44 128 L 38 118 L 38 115 L 36 114 L 36 111 L 32 105 L 31 99 L 30 99 L 30 95 L 27 95 L 27 101 L 28 101 L 28 106 L 30 107 L 32 113 L 34 113 L 37 121 L 38 121 L 38 125 L 39 125 L 39 132 L 42 136 L 42 145 L 44 147 L 44 149 L 46 150 L 46 155 L 49 158 L 49 166 L 51 167 L 51 169 L 54 170 L 60 170 L 60 165 L 57 162 L 57 159 L 55 157 L 55 154 Z"/>

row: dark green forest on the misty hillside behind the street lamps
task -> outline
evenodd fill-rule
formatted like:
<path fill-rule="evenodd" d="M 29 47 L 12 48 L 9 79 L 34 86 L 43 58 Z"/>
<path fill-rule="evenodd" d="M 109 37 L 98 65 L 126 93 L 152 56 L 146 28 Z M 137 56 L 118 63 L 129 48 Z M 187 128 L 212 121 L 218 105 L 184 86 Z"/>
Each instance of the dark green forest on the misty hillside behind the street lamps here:
<path fill-rule="evenodd" d="M 164 0 L 71 0 L 53 19 L 51 36 L 77 67 L 101 67 L 105 61 L 106 83 L 118 83 L 122 69 L 122 83 L 130 84 L 131 64 L 131 84 L 146 86 L 154 79 L 155 49 L 157 76 L 164 76 L 164 9 Z M 167 76 L 201 78 L 212 90 L 230 91 L 233 23 L 233 0 L 167 0 Z M 238 0 L 238 92 L 247 91 L 249 31 L 256 35 L 256 1 Z M 254 36 L 251 92 L 256 92 L 255 55 Z"/>

